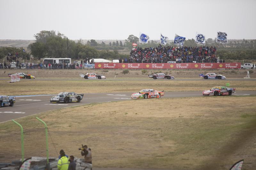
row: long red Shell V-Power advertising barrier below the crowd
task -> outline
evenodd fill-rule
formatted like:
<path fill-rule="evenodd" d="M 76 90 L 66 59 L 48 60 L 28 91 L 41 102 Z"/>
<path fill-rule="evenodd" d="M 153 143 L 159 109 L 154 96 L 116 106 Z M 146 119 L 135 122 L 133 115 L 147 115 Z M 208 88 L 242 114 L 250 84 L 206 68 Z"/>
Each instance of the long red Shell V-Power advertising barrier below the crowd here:
<path fill-rule="evenodd" d="M 241 63 L 95 63 L 95 69 L 240 69 Z"/>

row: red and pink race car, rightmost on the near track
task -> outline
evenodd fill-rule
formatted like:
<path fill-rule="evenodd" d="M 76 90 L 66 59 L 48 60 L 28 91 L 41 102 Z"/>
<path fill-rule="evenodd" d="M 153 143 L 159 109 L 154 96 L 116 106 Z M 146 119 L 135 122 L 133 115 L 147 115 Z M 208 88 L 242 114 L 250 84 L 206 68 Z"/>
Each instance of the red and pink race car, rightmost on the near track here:
<path fill-rule="evenodd" d="M 210 90 L 205 90 L 203 92 L 203 96 L 226 96 L 226 95 L 232 95 L 232 93 L 235 93 L 236 88 L 229 88 L 229 87 L 223 87 L 223 86 L 216 86 L 212 87 Z"/>

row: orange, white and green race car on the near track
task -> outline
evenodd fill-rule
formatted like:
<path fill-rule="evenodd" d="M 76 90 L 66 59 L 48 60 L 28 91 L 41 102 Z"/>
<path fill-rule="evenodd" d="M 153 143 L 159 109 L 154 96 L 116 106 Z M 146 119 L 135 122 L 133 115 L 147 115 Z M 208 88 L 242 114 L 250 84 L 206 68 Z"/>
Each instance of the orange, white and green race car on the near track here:
<path fill-rule="evenodd" d="M 161 98 L 164 95 L 163 91 L 154 89 L 142 89 L 140 92 L 132 93 L 132 99 L 148 99 L 148 98 Z"/>

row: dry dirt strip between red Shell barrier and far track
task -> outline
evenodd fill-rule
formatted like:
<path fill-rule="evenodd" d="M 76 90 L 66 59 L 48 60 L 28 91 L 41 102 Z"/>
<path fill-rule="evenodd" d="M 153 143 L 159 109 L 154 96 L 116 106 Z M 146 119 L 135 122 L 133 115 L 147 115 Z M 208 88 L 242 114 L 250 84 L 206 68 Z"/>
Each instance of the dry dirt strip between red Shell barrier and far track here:
<path fill-rule="evenodd" d="M 171 74 L 175 78 L 199 78 L 199 74 L 205 74 L 214 72 L 221 74 L 227 78 L 244 78 L 247 75 L 248 70 L 146 70 L 142 73 L 141 70 L 129 70 L 128 74 L 123 74 L 123 70 L 26 70 L 26 69 L 11 69 L 0 70 L 0 77 L 8 77 L 8 74 L 16 72 L 24 72 L 25 74 L 31 74 L 36 78 L 79 78 L 79 74 L 86 74 L 88 72 L 94 72 L 99 75 L 104 75 L 107 78 L 148 78 L 148 74 L 153 73 L 165 73 Z M 251 78 L 256 78 L 256 71 L 250 73 Z"/>

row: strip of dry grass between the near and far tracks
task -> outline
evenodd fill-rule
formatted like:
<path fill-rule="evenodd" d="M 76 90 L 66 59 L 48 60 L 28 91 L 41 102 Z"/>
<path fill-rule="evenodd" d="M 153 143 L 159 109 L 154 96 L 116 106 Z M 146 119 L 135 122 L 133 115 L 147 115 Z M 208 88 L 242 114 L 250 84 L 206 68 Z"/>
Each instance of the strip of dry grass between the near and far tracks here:
<path fill-rule="evenodd" d="M 164 91 L 203 91 L 213 86 L 236 87 L 237 91 L 256 90 L 255 81 L 228 81 L 204 80 L 176 81 L 176 80 L 29 80 L 21 79 L 20 82 L 9 83 L 0 80 L 1 94 L 30 95 L 30 94 L 55 94 L 60 91 L 73 92 L 135 92 L 144 88 L 153 88 Z"/>

